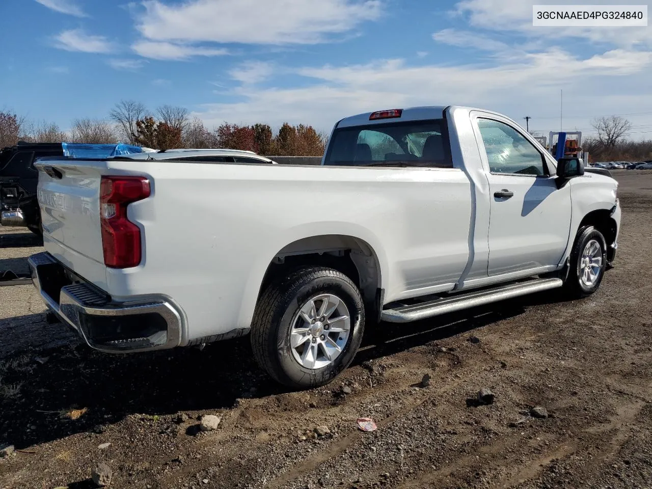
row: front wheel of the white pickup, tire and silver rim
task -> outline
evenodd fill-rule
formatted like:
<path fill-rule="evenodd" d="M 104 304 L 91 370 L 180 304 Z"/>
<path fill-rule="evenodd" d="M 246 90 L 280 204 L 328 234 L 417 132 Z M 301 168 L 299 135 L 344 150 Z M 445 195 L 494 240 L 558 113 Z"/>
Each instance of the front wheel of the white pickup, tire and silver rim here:
<path fill-rule="evenodd" d="M 606 269 L 606 250 L 604 236 L 593 226 L 578 231 L 569 260 L 569 273 L 564 282 L 565 295 L 580 299 L 597 291 Z M 589 263 L 593 263 L 593 266 L 587 266 Z"/>

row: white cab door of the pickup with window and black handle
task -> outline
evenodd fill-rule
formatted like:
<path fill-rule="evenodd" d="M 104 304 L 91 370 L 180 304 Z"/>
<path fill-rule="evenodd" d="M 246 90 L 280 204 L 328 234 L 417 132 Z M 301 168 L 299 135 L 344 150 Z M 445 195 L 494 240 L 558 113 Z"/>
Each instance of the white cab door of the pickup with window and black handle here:
<path fill-rule="evenodd" d="M 475 117 L 490 189 L 488 274 L 554 268 L 571 228 L 571 186 L 557 189 L 539 147 L 507 119 Z"/>

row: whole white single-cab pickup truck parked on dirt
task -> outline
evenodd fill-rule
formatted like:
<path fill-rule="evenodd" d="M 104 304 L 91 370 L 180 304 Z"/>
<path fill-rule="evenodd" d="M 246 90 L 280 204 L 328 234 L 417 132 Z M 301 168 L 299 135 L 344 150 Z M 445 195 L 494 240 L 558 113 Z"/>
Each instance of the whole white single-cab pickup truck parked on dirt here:
<path fill-rule="evenodd" d="M 342 119 L 321 166 L 36 166 L 46 252 L 29 259 L 33 282 L 89 346 L 250 334 L 258 363 L 295 388 L 332 381 L 365 323 L 593 293 L 621 215 L 614 179 L 460 106 Z"/>

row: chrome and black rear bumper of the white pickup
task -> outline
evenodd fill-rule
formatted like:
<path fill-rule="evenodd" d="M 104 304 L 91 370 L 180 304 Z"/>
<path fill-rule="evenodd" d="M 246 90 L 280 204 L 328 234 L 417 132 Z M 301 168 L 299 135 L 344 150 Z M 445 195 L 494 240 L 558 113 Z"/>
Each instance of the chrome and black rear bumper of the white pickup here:
<path fill-rule="evenodd" d="M 113 301 L 48 253 L 32 255 L 28 263 L 45 303 L 91 348 L 127 353 L 179 345 L 181 315 L 169 299 Z"/>

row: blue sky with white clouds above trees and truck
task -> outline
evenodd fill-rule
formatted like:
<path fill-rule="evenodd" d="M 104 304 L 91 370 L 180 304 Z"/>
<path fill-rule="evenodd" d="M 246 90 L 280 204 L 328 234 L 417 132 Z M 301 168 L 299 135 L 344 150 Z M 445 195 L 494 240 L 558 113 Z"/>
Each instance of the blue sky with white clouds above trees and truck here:
<path fill-rule="evenodd" d="M 328 130 L 368 110 L 467 104 L 547 134 L 563 89 L 565 130 L 622 114 L 632 139 L 652 138 L 652 27 L 533 27 L 533 3 L 546 2 L 0 0 L 0 110 L 66 129 L 131 99 L 209 127 Z"/>

